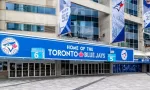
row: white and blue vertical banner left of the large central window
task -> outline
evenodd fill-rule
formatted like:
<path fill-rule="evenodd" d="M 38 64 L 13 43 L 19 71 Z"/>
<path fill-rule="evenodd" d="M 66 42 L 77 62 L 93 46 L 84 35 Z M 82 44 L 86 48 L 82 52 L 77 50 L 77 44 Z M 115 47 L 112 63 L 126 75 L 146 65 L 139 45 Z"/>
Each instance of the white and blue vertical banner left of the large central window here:
<path fill-rule="evenodd" d="M 59 0 L 60 3 L 60 17 L 59 17 L 59 35 L 71 32 L 71 1 Z"/>

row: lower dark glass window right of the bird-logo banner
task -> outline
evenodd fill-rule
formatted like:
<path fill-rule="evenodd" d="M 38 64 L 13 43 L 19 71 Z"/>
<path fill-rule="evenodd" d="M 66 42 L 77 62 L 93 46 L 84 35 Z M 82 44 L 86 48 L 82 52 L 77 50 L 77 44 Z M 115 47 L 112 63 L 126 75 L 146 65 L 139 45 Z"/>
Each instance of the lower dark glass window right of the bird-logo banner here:
<path fill-rule="evenodd" d="M 125 42 L 119 43 L 121 47 L 129 47 L 138 50 L 138 24 L 125 21 Z"/>

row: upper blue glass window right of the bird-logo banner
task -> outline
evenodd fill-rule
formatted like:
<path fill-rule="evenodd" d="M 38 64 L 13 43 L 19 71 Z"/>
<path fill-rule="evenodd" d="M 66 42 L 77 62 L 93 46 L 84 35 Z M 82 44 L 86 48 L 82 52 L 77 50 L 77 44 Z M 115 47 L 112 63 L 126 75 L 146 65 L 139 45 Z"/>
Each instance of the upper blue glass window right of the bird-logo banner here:
<path fill-rule="evenodd" d="M 138 0 L 125 0 L 125 12 L 138 16 Z"/>

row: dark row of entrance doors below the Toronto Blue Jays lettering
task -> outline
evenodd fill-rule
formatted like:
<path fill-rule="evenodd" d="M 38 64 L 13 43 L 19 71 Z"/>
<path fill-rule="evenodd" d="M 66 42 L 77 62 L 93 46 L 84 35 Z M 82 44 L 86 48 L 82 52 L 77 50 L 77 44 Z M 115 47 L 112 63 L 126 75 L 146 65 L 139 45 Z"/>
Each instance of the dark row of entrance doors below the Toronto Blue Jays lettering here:
<path fill-rule="evenodd" d="M 61 75 L 98 75 L 110 73 L 110 63 L 61 61 Z"/>

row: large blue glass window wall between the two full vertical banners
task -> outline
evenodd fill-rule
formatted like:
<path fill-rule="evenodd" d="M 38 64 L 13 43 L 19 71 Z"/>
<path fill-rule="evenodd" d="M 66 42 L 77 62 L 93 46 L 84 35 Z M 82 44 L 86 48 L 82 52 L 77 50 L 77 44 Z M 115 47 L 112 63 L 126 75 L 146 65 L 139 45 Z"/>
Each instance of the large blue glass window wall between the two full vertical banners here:
<path fill-rule="evenodd" d="M 82 39 L 97 40 L 99 36 L 98 11 L 72 3 L 72 36 Z"/>

